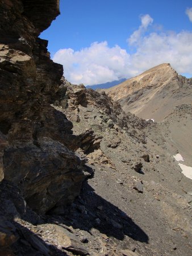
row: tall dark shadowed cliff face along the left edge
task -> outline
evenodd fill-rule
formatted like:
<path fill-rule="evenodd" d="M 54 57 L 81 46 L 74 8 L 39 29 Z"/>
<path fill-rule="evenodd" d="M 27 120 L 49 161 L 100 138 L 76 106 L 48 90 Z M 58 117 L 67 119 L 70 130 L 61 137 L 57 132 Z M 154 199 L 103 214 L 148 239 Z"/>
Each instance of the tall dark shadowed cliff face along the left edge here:
<path fill-rule="evenodd" d="M 37 38 L 59 14 L 59 0 L 0 3 L 0 180 L 22 189 L 28 205 L 45 213 L 73 201 L 84 180 L 72 150 L 80 138 L 53 104 L 62 66 Z"/>

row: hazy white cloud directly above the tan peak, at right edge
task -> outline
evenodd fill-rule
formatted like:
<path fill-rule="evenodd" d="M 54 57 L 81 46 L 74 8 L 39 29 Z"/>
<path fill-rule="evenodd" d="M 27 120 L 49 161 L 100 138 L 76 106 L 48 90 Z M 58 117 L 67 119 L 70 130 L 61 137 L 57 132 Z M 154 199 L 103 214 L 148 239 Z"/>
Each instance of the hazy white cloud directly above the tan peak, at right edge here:
<path fill-rule="evenodd" d="M 170 63 L 179 73 L 191 73 L 192 32 L 152 32 L 144 36 L 130 59 L 133 67 L 144 71 L 161 63 Z"/>

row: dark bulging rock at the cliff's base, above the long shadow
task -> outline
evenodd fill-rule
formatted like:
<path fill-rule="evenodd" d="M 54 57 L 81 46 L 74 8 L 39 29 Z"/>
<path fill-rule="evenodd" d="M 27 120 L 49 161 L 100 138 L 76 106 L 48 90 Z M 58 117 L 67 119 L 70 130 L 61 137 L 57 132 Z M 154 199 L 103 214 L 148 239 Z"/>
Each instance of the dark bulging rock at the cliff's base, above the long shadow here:
<path fill-rule="evenodd" d="M 24 192 L 27 204 L 36 212 L 45 213 L 56 203 L 58 206 L 72 203 L 80 192 L 85 175 L 77 167 L 81 168 L 81 160 L 61 143 L 47 139 L 46 142 L 39 142 L 39 145 L 7 148 L 4 168 L 6 180 L 15 184 L 23 180 L 20 189 Z M 23 168 L 15 175 L 16 168 L 20 166 Z M 73 189 L 70 189 L 73 185 Z"/>

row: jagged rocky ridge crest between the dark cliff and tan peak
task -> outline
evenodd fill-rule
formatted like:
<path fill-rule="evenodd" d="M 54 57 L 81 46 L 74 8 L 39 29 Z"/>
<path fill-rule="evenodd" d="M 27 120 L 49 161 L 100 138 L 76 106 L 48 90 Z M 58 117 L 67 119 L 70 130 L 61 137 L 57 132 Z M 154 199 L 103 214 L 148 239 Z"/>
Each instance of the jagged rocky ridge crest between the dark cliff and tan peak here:
<path fill-rule="evenodd" d="M 145 143 L 144 129 L 149 125 L 149 122 L 131 113 L 125 114 L 120 104 L 111 101 L 105 92 L 98 93 L 93 89 L 86 89 L 82 84 L 72 85 L 62 79 L 60 100 L 56 104 L 57 107 L 74 123 L 78 123 L 81 118 L 84 118 L 93 130 L 102 130 L 105 127 L 118 125 L 136 141 Z M 82 114 L 82 109 L 86 109 L 86 113 Z M 98 109 L 99 116 L 94 113 L 95 109 Z M 94 119 L 92 125 L 91 119 Z"/>

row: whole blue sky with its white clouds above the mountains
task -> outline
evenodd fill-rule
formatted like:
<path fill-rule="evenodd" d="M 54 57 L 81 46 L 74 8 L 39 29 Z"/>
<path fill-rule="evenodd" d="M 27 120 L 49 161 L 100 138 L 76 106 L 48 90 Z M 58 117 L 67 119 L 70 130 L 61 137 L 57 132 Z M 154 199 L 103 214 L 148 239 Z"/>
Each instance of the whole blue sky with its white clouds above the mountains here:
<path fill-rule="evenodd" d="M 192 1 L 60 0 L 60 11 L 40 37 L 70 82 L 130 78 L 165 62 L 192 76 Z"/>

